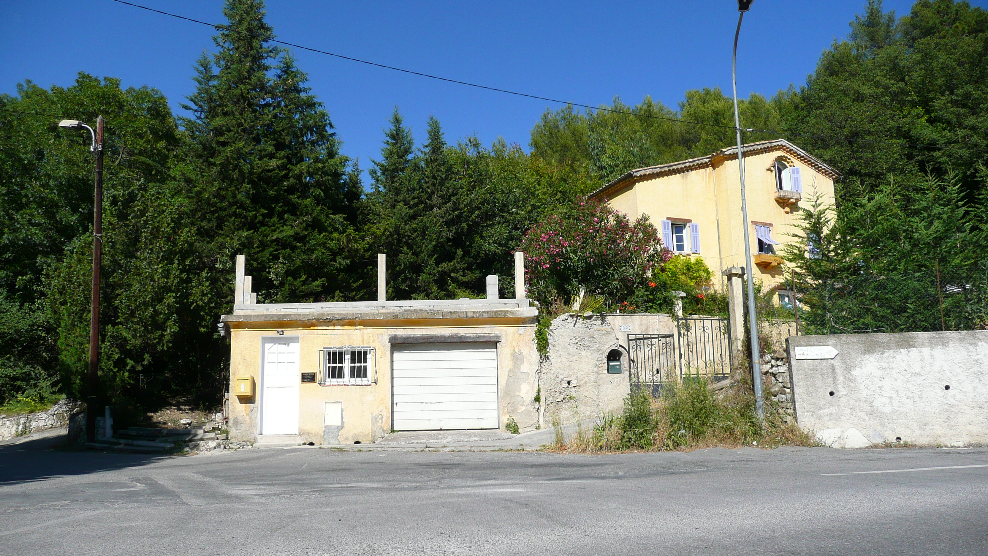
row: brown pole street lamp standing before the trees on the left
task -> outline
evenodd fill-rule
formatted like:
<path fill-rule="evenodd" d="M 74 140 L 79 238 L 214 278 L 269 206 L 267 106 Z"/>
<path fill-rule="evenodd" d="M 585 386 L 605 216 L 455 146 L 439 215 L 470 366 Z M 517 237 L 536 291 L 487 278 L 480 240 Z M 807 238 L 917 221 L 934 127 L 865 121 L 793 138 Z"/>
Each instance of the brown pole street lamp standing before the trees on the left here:
<path fill-rule="evenodd" d="M 100 261 L 103 250 L 103 117 L 96 119 L 96 131 L 78 120 L 62 120 L 59 128 L 89 130 L 92 143 L 89 149 L 96 152 L 96 184 L 93 189 L 93 292 L 92 311 L 89 317 L 89 380 L 86 396 L 86 440 L 96 441 L 97 391 L 100 383 Z"/>

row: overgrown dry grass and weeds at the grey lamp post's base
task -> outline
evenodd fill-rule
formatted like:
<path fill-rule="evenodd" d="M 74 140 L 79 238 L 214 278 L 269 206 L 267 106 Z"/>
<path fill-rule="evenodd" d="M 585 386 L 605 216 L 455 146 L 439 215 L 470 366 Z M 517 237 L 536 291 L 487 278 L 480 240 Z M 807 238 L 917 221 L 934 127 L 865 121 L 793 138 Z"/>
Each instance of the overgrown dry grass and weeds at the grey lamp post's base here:
<path fill-rule="evenodd" d="M 714 394 L 705 379 L 687 379 L 653 399 L 632 393 L 621 415 L 602 417 L 591 430 L 578 428 L 568 442 L 557 422 L 552 451 L 615 453 L 690 451 L 700 448 L 817 446 L 813 435 L 785 422 L 766 404 L 765 420 L 755 417 L 754 395 L 744 381 Z"/>

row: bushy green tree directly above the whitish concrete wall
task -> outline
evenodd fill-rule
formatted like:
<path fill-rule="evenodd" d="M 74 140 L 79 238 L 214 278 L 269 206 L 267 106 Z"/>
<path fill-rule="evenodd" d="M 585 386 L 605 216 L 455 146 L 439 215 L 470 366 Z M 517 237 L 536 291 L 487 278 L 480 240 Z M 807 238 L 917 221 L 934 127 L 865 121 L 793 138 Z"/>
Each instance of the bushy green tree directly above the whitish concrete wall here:
<path fill-rule="evenodd" d="M 854 180 L 839 210 L 813 202 L 784 256 L 814 333 L 988 326 L 988 196 L 969 202 L 955 176 Z"/>

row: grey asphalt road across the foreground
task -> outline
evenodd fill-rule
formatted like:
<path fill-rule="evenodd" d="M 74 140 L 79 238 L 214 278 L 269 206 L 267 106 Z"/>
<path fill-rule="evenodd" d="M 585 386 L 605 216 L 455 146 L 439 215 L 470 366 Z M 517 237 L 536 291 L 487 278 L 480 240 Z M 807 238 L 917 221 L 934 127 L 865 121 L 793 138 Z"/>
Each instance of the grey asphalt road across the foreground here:
<path fill-rule="evenodd" d="M 46 442 L 0 446 L 0 554 L 988 554 L 984 448 L 162 458 Z"/>

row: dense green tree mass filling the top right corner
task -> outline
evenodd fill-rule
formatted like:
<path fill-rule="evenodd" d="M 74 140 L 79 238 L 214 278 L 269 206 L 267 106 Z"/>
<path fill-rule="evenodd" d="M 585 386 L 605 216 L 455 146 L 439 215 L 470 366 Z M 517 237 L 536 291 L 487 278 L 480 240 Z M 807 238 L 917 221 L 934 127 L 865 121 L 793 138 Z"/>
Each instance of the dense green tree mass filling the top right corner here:
<path fill-rule="evenodd" d="M 869 0 L 851 27 L 774 99 L 787 137 L 865 187 L 952 173 L 973 194 L 988 159 L 988 12 L 920 0 L 896 20 Z"/>

